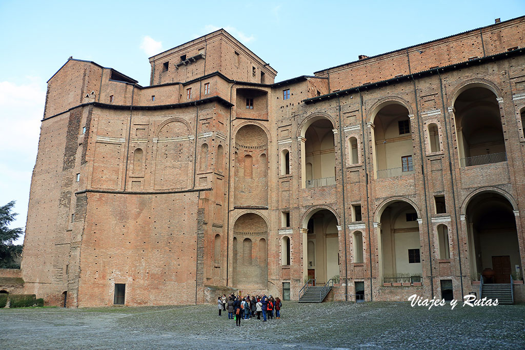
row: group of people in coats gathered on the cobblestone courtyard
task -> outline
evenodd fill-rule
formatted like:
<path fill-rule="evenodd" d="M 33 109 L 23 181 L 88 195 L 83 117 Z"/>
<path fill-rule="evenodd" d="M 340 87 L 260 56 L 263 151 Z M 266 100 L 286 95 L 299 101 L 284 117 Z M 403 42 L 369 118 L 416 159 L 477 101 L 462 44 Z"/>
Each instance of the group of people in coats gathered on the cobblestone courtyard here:
<path fill-rule="evenodd" d="M 257 314 L 257 320 L 261 319 L 266 322 L 268 319 L 281 318 L 282 303 L 279 297 L 257 295 L 246 295 L 241 298 L 239 295 L 231 294 L 226 298 L 226 294 L 217 298 L 217 305 L 219 308 L 219 316 L 221 311 L 226 311 L 228 308 L 228 319 L 235 320 L 235 324 L 240 326 L 240 320 L 249 320 Z"/>

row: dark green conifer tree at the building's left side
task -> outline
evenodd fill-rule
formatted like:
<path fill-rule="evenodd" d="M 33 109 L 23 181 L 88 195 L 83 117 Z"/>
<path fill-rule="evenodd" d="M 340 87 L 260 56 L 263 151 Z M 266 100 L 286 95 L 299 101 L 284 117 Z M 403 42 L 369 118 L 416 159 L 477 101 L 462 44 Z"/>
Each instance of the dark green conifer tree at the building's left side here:
<path fill-rule="evenodd" d="M 9 228 L 9 224 L 15 220 L 18 214 L 12 213 L 15 201 L 12 200 L 0 207 L 0 268 L 20 268 L 15 258 L 22 254 L 22 246 L 14 246 L 13 241 L 20 237 L 24 230 L 22 228 Z"/>

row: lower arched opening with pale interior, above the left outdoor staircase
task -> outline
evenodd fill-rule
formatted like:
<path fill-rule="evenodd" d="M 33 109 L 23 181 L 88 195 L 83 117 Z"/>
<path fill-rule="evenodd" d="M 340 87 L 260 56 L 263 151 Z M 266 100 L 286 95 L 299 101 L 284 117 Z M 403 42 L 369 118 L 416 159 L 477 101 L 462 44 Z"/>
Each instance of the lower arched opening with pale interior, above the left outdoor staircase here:
<path fill-rule="evenodd" d="M 302 222 L 308 229 L 307 245 L 303 245 L 304 277 L 315 278 L 319 284 L 339 276 L 339 230 L 337 217 L 328 209 L 309 213 Z"/>

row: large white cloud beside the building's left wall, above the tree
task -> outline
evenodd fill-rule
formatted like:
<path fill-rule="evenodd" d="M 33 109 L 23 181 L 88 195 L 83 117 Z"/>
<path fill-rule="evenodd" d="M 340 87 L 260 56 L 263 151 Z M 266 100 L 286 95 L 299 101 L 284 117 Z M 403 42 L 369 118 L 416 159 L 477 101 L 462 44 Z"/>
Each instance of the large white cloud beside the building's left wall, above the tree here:
<path fill-rule="evenodd" d="M 19 214 L 10 227 L 26 225 L 45 99 L 46 83 L 38 77 L 26 77 L 23 83 L 0 81 L 0 205 L 16 200 L 13 211 Z"/>

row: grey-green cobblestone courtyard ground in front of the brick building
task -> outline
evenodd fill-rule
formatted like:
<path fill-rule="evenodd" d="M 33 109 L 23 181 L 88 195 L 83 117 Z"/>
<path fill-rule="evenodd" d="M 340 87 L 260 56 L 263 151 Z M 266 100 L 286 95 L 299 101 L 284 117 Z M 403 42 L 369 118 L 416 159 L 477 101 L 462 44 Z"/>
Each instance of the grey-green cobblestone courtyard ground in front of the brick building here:
<path fill-rule="evenodd" d="M 217 307 L 0 310 L 0 348 L 525 348 L 525 304 L 283 303 L 280 320 Z"/>

